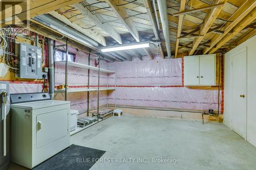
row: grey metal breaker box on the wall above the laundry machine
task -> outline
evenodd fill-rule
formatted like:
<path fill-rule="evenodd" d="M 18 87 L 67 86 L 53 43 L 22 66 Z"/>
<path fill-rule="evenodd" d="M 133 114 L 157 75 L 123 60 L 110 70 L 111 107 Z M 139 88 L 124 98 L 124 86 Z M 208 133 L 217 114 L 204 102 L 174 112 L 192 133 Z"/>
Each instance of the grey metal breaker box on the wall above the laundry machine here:
<path fill-rule="evenodd" d="M 25 79 L 42 79 L 42 49 L 27 43 L 19 43 L 18 55 L 18 77 Z"/>

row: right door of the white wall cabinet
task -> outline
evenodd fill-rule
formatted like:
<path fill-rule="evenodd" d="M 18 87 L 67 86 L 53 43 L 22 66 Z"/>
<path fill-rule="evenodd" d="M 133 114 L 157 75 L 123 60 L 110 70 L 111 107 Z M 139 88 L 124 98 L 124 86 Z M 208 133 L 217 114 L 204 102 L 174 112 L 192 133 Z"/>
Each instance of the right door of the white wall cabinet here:
<path fill-rule="evenodd" d="M 200 85 L 215 85 L 215 55 L 200 56 Z"/>

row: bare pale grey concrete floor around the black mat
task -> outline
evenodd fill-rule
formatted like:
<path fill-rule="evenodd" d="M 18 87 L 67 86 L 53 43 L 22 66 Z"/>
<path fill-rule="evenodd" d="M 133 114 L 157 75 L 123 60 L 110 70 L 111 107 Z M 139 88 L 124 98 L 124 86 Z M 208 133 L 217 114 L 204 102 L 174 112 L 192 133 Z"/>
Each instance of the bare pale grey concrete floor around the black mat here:
<path fill-rule="evenodd" d="M 106 151 L 101 157 L 105 163 L 97 162 L 90 170 L 256 167 L 256 148 L 221 123 L 122 115 L 73 135 L 71 143 Z M 180 162 L 152 163 L 152 158 Z M 120 163 L 125 160 L 131 162 Z M 25 168 L 11 163 L 9 169 Z"/>

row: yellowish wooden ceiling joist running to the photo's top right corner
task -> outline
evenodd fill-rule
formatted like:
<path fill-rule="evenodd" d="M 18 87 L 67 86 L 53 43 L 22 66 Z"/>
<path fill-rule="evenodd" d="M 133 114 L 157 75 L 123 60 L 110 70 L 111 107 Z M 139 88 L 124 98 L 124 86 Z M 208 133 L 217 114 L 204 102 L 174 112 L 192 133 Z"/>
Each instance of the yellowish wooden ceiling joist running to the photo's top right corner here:
<path fill-rule="evenodd" d="M 230 33 L 230 31 L 240 22 L 243 18 L 256 6 L 255 1 L 246 1 L 241 7 L 229 18 L 229 20 L 233 20 L 232 22 L 227 22 L 224 27 L 220 30 L 224 31 L 222 35 L 215 35 L 211 38 L 210 47 L 204 48 L 204 54 L 209 52 L 212 47 L 214 47 L 225 35 Z M 255 14 L 254 14 L 255 15 Z"/>

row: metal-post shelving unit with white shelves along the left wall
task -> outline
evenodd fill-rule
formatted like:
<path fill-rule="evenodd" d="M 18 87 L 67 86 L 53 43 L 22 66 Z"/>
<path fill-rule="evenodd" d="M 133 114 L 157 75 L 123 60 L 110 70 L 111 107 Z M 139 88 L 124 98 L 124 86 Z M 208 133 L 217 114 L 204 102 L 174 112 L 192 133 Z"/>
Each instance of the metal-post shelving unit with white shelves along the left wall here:
<path fill-rule="evenodd" d="M 54 48 L 55 49 L 55 48 Z M 55 54 L 55 53 L 54 53 Z M 66 40 L 66 59 L 68 58 L 68 38 Z M 87 125 L 86 127 L 83 128 L 79 128 L 76 127 L 77 129 L 75 131 L 70 132 L 70 135 L 73 135 L 75 133 L 78 133 L 92 125 L 95 125 L 97 123 L 99 123 L 100 121 L 104 120 L 104 119 L 100 119 L 99 120 L 99 91 L 101 90 L 106 90 L 107 91 L 107 102 L 106 102 L 106 107 L 108 108 L 108 91 L 109 90 L 115 90 L 116 89 L 116 75 L 115 75 L 115 87 L 109 87 L 109 81 L 106 84 L 106 88 L 99 88 L 99 84 L 100 84 L 100 72 L 106 72 L 107 74 L 115 74 L 115 71 L 112 70 L 108 70 L 108 69 L 103 69 L 100 68 L 100 56 L 98 56 L 98 65 L 99 67 L 94 67 L 90 65 L 90 53 L 89 53 L 89 57 L 88 57 L 88 65 L 86 64 L 81 64 L 81 63 L 77 63 L 77 62 L 72 62 L 72 61 L 55 61 L 54 65 L 58 64 L 58 65 L 65 65 L 65 89 L 58 89 L 58 90 L 54 90 L 54 92 L 57 93 L 61 93 L 62 95 L 65 94 L 65 101 L 68 100 L 68 93 L 73 93 L 73 92 L 87 92 L 87 101 L 88 101 L 88 105 L 87 105 L 87 116 L 89 116 L 89 92 L 90 91 L 97 91 L 98 93 L 98 98 L 97 98 L 97 121 Z M 73 66 L 73 67 L 78 67 L 78 68 L 84 68 L 84 69 L 88 69 L 88 88 L 77 88 L 77 89 L 69 89 L 68 88 L 68 66 Z M 96 70 L 98 71 L 98 88 L 90 88 L 90 70 Z M 116 94 L 115 94 L 116 96 Z M 115 97 L 116 98 L 116 97 Z M 115 106 L 116 106 L 116 99 L 115 99 Z M 110 116 L 106 116 L 106 118 L 108 118 Z"/>

